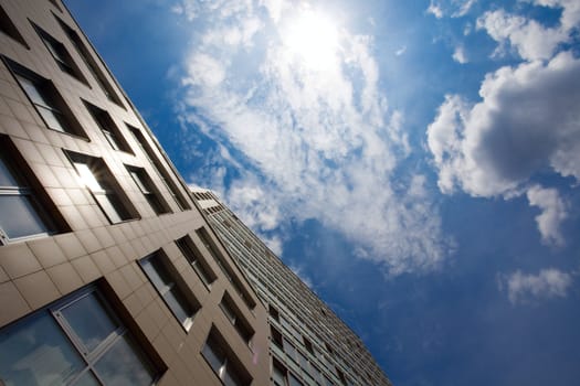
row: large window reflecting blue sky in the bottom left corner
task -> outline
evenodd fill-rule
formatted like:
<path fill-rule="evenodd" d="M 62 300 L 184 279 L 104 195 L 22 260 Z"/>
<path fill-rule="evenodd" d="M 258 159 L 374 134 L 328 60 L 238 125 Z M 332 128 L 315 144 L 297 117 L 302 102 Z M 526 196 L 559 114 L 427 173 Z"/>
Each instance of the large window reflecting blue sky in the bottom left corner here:
<path fill-rule="evenodd" d="M 0 331 L 2 385 L 151 385 L 160 369 L 96 287 Z"/>

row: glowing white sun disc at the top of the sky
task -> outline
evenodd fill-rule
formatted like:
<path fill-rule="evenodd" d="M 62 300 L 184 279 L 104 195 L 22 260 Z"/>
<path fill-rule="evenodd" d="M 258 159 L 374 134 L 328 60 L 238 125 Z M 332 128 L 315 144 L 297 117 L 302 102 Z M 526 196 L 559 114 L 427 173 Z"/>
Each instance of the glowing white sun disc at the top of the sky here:
<path fill-rule="evenodd" d="M 283 44 L 307 68 L 324 71 L 337 63 L 338 29 L 328 15 L 302 9 L 282 31 Z"/>

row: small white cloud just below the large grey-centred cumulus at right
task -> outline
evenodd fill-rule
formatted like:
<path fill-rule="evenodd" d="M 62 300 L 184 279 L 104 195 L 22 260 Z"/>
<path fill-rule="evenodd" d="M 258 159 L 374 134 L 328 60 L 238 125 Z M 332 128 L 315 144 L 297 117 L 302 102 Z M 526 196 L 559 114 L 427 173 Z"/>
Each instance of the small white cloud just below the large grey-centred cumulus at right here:
<path fill-rule="evenodd" d="M 527 197 L 531 206 L 537 206 L 541 211 L 536 217 L 536 223 L 542 242 L 549 245 L 563 245 L 560 224 L 568 217 L 568 213 L 567 205 L 560 199 L 558 191 L 534 185 L 527 191 Z"/>

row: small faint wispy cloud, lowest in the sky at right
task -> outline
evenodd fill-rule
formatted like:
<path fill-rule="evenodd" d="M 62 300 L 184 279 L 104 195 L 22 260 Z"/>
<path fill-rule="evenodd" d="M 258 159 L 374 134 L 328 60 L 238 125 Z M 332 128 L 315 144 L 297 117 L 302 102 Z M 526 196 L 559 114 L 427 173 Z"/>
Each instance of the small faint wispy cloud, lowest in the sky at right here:
<path fill-rule="evenodd" d="M 538 275 L 525 275 L 517 270 L 503 278 L 500 288 L 507 287 L 512 303 L 529 302 L 534 299 L 565 298 L 572 283 L 572 277 L 555 268 L 542 269 Z"/>

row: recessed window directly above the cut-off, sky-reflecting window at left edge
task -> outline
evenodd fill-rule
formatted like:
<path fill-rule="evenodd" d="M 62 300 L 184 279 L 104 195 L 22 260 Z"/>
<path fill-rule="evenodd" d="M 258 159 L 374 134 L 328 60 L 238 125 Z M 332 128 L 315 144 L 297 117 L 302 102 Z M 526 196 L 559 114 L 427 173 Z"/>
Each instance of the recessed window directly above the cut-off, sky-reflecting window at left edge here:
<path fill-rule="evenodd" d="M 74 119 L 73 114 L 52 82 L 36 75 L 14 61 L 7 57 L 3 57 L 3 60 L 50 129 L 86 138 L 84 132 L 75 129 L 80 127 L 78 122 Z"/>

